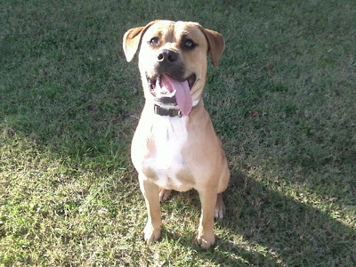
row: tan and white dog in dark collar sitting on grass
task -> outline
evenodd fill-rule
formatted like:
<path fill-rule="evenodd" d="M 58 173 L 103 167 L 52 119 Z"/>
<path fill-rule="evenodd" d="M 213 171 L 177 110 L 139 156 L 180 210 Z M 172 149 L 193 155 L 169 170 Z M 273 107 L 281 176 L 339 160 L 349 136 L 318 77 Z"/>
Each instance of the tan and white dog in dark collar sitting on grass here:
<path fill-rule="evenodd" d="M 127 61 L 139 51 L 146 99 L 131 147 L 148 209 L 144 238 L 160 237 L 160 199 L 171 190 L 195 189 L 201 202 L 198 242 L 210 247 L 214 217 L 223 218 L 230 171 L 201 95 L 206 54 L 217 67 L 223 37 L 195 22 L 155 20 L 129 29 L 123 46 Z"/>

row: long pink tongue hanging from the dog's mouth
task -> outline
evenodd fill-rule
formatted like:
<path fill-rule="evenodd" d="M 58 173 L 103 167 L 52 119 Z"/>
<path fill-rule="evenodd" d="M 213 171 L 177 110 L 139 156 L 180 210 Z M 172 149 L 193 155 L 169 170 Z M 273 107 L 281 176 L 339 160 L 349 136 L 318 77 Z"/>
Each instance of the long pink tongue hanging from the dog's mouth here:
<path fill-rule="evenodd" d="M 169 91 L 169 93 L 172 93 L 175 90 L 175 100 L 177 101 L 178 107 L 181 109 L 183 116 L 188 116 L 193 106 L 188 81 L 181 83 L 166 74 L 162 74 L 161 87 L 166 87 L 166 90 Z"/>

